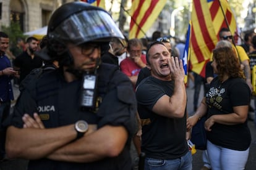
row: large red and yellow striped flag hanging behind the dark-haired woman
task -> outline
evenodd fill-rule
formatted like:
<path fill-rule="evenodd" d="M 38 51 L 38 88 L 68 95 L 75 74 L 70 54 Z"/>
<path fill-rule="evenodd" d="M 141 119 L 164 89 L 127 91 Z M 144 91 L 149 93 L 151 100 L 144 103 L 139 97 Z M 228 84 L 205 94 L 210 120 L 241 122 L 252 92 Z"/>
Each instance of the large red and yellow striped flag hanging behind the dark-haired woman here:
<path fill-rule="evenodd" d="M 191 20 L 190 63 L 192 71 L 205 77 L 205 65 L 218 42 L 220 29 L 229 28 L 234 34 L 236 20 L 226 0 L 194 0 Z"/>

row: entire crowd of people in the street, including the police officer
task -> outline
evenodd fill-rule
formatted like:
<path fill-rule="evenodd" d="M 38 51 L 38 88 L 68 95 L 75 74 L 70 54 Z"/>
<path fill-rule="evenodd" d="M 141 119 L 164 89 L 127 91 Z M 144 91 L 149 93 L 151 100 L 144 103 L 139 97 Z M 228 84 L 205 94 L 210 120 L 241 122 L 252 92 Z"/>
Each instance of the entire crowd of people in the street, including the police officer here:
<path fill-rule="evenodd" d="M 187 141 L 206 116 L 202 169 L 244 169 L 256 34 L 237 46 L 223 28 L 219 39 L 206 78 L 191 78 L 189 116 L 184 43 L 160 31 L 151 40 L 126 39 L 108 12 L 85 2 L 62 5 L 42 40 L 17 39 L 9 52 L 0 31 L 0 159 L 29 160 L 27 169 L 191 170 Z M 12 79 L 20 95 L 10 113 Z"/>

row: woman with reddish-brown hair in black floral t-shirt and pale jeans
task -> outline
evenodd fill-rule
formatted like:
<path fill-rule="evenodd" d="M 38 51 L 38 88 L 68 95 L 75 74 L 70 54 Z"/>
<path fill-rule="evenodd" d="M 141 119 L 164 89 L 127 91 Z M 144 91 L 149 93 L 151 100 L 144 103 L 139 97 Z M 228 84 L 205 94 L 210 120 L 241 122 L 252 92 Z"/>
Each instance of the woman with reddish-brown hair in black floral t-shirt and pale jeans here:
<path fill-rule="evenodd" d="M 244 169 L 251 141 L 247 126 L 250 89 L 233 49 L 214 49 L 211 66 L 218 76 L 211 81 L 195 115 L 187 119 L 187 127 L 194 126 L 207 113 L 205 129 L 211 169 Z"/>

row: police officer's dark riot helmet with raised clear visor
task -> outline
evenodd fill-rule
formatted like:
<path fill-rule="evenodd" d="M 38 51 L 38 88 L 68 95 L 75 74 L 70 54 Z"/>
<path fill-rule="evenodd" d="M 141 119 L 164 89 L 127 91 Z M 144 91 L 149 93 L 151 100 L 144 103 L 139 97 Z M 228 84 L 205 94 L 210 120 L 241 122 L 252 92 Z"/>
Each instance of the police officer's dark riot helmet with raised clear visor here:
<path fill-rule="evenodd" d="M 48 24 L 49 60 L 67 60 L 67 43 L 77 46 L 86 42 L 109 42 L 124 39 L 111 15 L 100 7 L 86 2 L 68 2 L 56 9 Z"/>

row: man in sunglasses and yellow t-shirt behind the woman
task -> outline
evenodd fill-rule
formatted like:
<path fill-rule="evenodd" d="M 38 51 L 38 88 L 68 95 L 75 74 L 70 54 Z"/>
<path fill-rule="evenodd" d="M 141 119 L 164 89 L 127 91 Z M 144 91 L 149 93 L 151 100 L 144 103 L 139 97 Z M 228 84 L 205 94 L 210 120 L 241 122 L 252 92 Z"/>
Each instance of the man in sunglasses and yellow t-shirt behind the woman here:
<path fill-rule="evenodd" d="M 226 40 L 231 42 L 233 44 L 233 49 L 236 52 L 237 56 L 239 57 L 239 60 L 241 62 L 241 67 L 244 67 L 244 75 L 246 77 L 246 83 L 250 87 L 250 91 L 252 91 L 252 83 L 250 78 L 250 65 L 249 65 L 249 57 L 244 51 L 244 49 L 241 46 L 236 46 L 234 43 L 233 36 L 231 34 L 231 31 L 229 31 L 228 28 L 221 28 L 220 33 L 220 40 Z"/>

